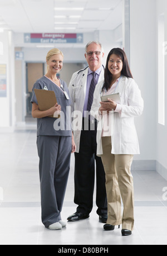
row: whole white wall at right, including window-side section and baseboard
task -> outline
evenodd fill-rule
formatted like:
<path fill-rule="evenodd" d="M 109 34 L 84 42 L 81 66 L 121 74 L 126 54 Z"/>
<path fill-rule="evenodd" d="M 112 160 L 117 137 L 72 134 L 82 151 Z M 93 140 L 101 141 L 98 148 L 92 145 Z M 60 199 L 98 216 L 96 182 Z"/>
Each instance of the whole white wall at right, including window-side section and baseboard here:
<path fill-rule="evenodd" d="M 130 66 L 144 98 L 144 112 L 136 118 L 140 168 L 156 169 L 167 180 L 167 107 L 165 125 L 158 124 L 158 20 L 164 13 L 165 102 L 167 99 L 167 1 L 130 0 Z M 160 46 L 163 50 L 163 45 Z M 161 68 L 161 67 L 160 67 Z M 149 165 L 150 164 L 150 165 Z M 144 166 L 145 165 L 145 166 Z"/>

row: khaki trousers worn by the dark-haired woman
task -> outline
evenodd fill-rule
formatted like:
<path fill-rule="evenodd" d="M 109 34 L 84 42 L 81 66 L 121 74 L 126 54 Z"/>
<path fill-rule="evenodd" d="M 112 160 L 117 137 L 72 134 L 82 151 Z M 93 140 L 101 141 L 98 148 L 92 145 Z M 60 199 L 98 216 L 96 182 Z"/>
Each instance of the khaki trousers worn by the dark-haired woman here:
<path fill-rule="evenodd" d="M 107 224 L 122 229 L 134 227 L 134 186 L 131 174 L 133 155 L 111 154 L 111 137 L 102 137 L 101 155 L 106 174 L 108 219 Z M 121 214 L 121 198 L 124 205 Z"/>

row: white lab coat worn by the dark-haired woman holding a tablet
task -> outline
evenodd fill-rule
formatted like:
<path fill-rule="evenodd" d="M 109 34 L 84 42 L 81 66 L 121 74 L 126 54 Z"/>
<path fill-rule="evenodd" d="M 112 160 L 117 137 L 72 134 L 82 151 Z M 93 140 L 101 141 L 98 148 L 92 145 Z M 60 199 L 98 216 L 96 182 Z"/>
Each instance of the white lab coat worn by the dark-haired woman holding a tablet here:
<path fill-rule="evenodd" d="M 102 155 L 101 143 L 101 127 L 104 124 L 104 118 L 99 115 L 99 107 L 101 98 L 101 88 L 104 81 L 96 85 L 94 92 L 94 102 L 92 103 L 91 115 L 99 120 L 97 126 L 97 155 Z M 112 134 L 111 144 L 112 154 L 140 154 L 139 142 L 134 125 L 134 117 L 140 116 L 143 112 L 143 98 L 141 92 L 134 79 L 122 77 L 119 86 L 116 88 L 115 93 L 119 92 L 121 95 L 121 113 L 112 111 Z"/>

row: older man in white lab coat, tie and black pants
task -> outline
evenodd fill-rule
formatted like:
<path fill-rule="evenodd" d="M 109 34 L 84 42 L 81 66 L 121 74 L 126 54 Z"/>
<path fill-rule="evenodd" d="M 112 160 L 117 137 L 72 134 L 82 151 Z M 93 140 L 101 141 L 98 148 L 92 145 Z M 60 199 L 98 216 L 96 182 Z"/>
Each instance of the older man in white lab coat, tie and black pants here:
<path fill-rule="evenodd" d="M 75 214 L 68 221 L 86 219 L 93 207 L 95 161 L 96 161 L 96 205 L 99 219 L 106 223 L 107 197 L 105 172 L 100 157 L 97 157 L 97 120 L 88 115 L 97 82 L 104 79 L 102 58 L 104 51 L 98 41 L 91 41 L 85 47 L 85 58 L 89 67 L 72 75 L 68 87 L 71 98 L 73 120 L 77 116 L 78 127 L 73 125 L 73 136 L 76 143 L 75 153 L 75 196 L 78 205 Z M 76 124 L 73 122 L 73 124 Z"/>

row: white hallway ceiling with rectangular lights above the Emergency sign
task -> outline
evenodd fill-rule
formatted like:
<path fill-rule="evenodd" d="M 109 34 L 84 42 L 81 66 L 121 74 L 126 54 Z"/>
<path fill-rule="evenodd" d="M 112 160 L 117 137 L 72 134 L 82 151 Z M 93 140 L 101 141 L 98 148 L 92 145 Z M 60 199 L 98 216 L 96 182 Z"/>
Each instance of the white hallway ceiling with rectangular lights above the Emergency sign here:
<path fill-rule="evenodd" d="M 0 31 L 82 33 L 121 23 L 122 0 L 0 0 Z"/>

